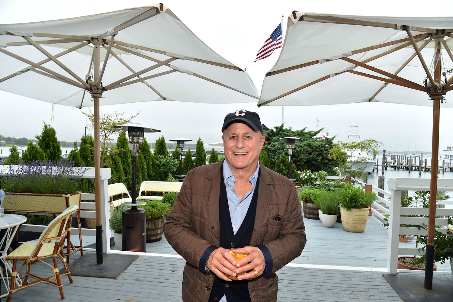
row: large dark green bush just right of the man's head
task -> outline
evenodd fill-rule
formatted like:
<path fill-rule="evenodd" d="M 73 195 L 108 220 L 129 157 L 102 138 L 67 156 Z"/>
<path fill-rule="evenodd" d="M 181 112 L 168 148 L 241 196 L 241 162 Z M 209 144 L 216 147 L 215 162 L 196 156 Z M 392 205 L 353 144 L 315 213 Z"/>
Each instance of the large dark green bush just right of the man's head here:
<path fill-rule="evenodd" d="M 266 136 L 266 141 L 261 152 L 266 151 L 270 167 L 275 167 L 281 154 L 286 154 L 285 142 L 279 141 L 279 138 L 294 136 L 303 139 L 302 142 L 296 142 L 291 158 L 291 170 L 303 171 L 309 169 L 311 171 L 326 171 L 329 175 L 337 175 L 335 168 L 339 164 L 338 161 L 328 158 L 327 154 L 332 146 L 334 138 L 325 138 L 322 140 L 312 139 L 318 134 L 318 131 L 292 130 L 284 128 L 284 125 L 276 126 L 274 129 L 265 130 L 263 134 Z"/>

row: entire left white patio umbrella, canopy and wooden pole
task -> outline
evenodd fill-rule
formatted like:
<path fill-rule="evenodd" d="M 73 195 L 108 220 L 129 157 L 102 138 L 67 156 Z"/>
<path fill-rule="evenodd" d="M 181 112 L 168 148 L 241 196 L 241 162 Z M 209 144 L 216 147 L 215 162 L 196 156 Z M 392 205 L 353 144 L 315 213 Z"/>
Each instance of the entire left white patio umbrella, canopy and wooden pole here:
<path fill-rule="evenodd" d="M 0 46 L 2 90 L 53 104 L 94 106 L 96 238 L 102 231 L 100 105 L 258 99 L 246 72 L 212 51 L 162 4 L 2 24 Z M 97 253 L 101 264 L 102 251 Z"/>

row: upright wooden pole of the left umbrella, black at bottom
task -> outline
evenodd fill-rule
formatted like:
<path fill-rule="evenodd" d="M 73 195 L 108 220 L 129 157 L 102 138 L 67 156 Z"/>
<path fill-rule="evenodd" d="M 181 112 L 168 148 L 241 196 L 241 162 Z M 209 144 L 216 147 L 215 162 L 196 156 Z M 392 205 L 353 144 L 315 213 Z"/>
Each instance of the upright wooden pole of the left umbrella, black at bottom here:
<path fill-rule="evenodd" d="M 99 43 L 94 43 L 94 81 L 99 81 Z M 101 222 L 101 146 L 99 135 L 99 98 L 100 91 L 92 91 L 94 98 L 94 180 L 96 202 L 96 264 L 102 264 L 102 222 Z"/>

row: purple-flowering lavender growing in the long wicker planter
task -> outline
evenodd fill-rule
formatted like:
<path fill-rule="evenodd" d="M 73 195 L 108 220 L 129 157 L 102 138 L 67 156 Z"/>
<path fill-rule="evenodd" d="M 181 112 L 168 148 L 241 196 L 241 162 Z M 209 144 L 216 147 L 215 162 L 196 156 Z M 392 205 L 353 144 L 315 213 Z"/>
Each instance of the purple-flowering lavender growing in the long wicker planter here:
<path fill-rule="evenodd" d="M 0 177 L 0 187 L 5 192 L 65 194 L 77 192 L 82 187 L 82 176 L 88 168 L 74 167 L 74 162 L 33 162 L 10 166 Z"/>

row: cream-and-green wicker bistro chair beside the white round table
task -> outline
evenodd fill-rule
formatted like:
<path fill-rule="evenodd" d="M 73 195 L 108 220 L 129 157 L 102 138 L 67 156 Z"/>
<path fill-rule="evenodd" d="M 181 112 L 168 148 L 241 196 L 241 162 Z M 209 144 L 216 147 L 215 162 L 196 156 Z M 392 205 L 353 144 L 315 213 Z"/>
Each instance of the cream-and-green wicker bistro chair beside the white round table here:
<path fill-rule="evenodd" d="M 71 272 L 67 267 L 66 259 L 64 258 L 64 240 L 69 233 L 69 229 L 71 228 L 71 218 L 72 214 L 76 213 L 78 210 L 78 206 L 70 206 L 68 207 L 63 213 L 58 215 L 49 223 L 49 225 L 45 228 L 37 243 L 34 242 L 25 242 L 21 244 L 17 249 L 14 249 L 7 257 L 7 260 L 13 261 L 13 268 L 11 273 L 11 285 L 10 285 L 10 293 L 6 302 L 10 302 L 11 296 L 13 291 L 27 288 L 29 286 L 47 282 L 54 286 L 57 286 L 60 290 L 60 296 L 64 299 L 63 293 L 63 285 L 61 283 L 61 276 L 67 275 L 69 278 L 69 282 L 72 283 Z M 63 262 L 63 266 L 66 270 L 65 273 L 60 273 L 58 266 L 57 266 L 57 256 L 60 257 L 61 261 Z M 50 258 L 53 259 L 53 265 L 48 264 L 47 262 L 43 261 L 42 259 Z M 17 266 L 17 260 L 23 260 L 22 263 Z M 33 273 L 30 273 L 31 265 L 35 262 L 42 262 L 43 264 L 48 265 L 53 269 L 53 276 L 50 277 L 40 277 Z M 24 278 L 24 282 L 19 287 L 14 287 L 15 285 L 15 278 L 17 276 L 17 272 L 19 268 L 21 268 L 24 264 L 27 265 L 27 270 Z M 28 278 L 32 277 L 37 279 L 36 281 L 29 282 Z M 55 281 L 51 281 L 55 279 Z"/>

